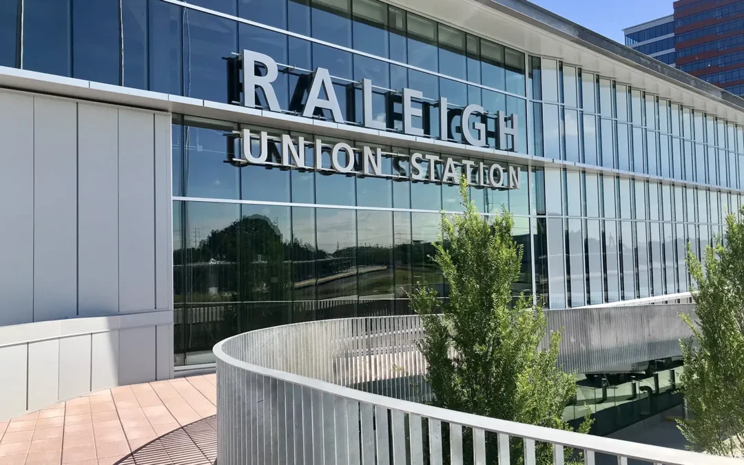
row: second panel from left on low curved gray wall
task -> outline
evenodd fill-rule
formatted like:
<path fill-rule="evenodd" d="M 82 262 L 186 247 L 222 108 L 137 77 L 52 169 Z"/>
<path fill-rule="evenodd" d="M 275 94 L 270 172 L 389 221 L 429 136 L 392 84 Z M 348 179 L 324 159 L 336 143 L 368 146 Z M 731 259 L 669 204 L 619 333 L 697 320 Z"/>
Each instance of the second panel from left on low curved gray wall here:
<path fill-rule="evenodd" d="M 67 373 L 67 376 L 71 376 L 71 373 Z M 57 403 L 59 383 L 59 339 L 28 344 L 28 410 Z"/>

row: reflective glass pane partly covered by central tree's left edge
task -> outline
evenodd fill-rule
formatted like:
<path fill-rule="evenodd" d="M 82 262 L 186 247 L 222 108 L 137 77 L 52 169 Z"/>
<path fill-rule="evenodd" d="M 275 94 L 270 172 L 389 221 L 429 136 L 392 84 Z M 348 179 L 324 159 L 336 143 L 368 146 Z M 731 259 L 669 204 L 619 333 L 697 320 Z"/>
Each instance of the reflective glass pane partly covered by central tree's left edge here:
<path fill-rule="evenodd" d="M 444 295 L 444 278 L 437 263 L 434 263 L 434 246 L 432 243 L 440 240 L 442 235 L 440 228 L 440 214 L 438 213 L 412 213 L 411 225 L 413 225 L 412 238 L 413 250 L 413 283 L 426 283 L 433 286 L 438 294 Z"/>

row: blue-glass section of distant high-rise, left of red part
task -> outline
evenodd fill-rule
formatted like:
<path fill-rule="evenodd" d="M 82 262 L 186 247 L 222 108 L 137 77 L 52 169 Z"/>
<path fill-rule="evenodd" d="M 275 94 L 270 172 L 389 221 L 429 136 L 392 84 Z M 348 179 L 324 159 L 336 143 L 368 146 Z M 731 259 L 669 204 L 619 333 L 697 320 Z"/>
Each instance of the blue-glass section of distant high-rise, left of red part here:
<path fill-rule="evenodd" d="M 625 45 L 674 66 L 674 15 L 623 29 Z"/>

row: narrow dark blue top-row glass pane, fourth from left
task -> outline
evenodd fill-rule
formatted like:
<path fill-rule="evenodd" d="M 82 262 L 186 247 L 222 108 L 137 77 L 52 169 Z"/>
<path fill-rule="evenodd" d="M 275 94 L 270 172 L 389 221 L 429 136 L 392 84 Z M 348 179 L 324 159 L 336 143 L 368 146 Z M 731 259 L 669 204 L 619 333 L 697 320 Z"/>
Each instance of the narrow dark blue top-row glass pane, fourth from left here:
<path fill-rule="evenodd" d="M 147 89 L 147 0 L 121 4 L 124 35 L 124 86 Z"/>

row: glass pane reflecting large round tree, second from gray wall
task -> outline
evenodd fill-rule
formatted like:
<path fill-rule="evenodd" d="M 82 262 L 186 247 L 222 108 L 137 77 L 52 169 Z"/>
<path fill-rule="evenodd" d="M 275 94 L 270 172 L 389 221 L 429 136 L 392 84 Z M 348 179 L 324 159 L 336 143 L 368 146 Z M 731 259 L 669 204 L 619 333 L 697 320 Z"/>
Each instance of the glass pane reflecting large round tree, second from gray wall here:
<path fill-rule="evenodd" d="M 289 207 L 241 205 L 243 301 L 292 300 Z"/>

